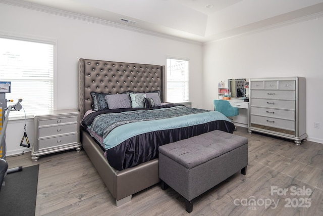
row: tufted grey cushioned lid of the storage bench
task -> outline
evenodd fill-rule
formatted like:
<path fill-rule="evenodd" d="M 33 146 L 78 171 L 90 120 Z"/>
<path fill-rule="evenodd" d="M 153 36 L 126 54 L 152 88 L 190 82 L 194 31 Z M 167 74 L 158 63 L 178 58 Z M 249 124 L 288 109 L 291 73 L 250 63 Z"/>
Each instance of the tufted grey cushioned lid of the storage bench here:
<path fill-rule="evenodd" d="M 248 139 L 223 131 L 211 131 L 159 147 L 159 153 L 191 169 L 248 143 Z"/>

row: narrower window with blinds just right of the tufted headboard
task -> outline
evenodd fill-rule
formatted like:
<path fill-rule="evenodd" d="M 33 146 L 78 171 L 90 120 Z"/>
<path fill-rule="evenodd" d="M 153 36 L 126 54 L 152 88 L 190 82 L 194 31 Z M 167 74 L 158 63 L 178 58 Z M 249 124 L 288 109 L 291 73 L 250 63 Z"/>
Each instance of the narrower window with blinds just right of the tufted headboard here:
<path fill-rule="evenodd" d="M 187 60 L 167 58 L 167 101 L 188 101 Z"/>

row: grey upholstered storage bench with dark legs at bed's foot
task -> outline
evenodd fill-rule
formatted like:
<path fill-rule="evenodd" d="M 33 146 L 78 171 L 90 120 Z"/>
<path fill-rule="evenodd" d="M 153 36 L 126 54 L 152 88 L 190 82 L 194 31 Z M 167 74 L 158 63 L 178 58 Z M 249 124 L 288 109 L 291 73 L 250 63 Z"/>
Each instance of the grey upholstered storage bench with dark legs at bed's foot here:
<path fill-rule="evenodd" d="M 185 198 L 186 211 L 192 199 L 223 182 L 237 171 L 246 175 L 248 139 L 212 131 L 159 147 L 161 188 L 172 187 Z"/>

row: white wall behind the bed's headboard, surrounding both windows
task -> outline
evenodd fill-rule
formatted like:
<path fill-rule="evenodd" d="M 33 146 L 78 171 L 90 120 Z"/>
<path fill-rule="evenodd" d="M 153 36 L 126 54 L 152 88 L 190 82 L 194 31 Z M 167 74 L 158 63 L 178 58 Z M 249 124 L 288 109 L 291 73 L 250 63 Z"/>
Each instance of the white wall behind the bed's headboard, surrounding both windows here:
<path fill-rule="evenodd" d="M 202 47 L 199 44 L 6 4 L 0 4 L 0 31 L 57 41 L 58 109 L 78 109 L 79 58 L 159 65 L 166 64 L 166 56 L 188 59 L 190 101 L 194 107 L 201 108 L 203 104 L 200 97 Z M 23 126 L 24 121 L 8 124 L 7 155 L 30 150 L 19 147 Z M 33 122 L 28 120 L 27 134 L 31 144 L 34 143 L 33 133 Z"/>

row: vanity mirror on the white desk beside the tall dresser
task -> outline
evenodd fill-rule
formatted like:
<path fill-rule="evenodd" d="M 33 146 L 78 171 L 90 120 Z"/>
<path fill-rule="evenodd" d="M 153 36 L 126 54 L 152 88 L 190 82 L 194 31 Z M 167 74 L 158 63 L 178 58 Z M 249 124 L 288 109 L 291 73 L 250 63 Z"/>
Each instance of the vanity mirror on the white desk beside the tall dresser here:
<path fill-rule="evenodd" d="M 249 83 L 247 79 L 228 79 L 228 87 L 231 92 L 231 97 L 233 98 L 245 98 L 249 97 Z"/>

